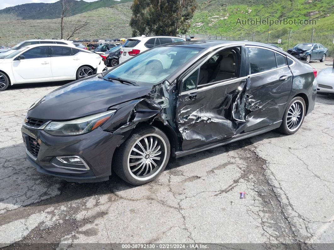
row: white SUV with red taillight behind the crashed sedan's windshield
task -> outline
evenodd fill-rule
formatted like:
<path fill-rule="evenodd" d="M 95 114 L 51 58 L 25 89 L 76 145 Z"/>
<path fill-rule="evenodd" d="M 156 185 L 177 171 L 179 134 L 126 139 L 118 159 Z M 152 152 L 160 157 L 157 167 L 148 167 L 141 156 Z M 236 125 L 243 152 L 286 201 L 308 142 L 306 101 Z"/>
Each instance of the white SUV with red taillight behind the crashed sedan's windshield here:
<path fill-rule="evenodd" d="M 138 36 L 129 38 L 121 48 L 120 63 L 134 55 L 166 43 L 184 42 L 185 39 L 176 36 Z"/>

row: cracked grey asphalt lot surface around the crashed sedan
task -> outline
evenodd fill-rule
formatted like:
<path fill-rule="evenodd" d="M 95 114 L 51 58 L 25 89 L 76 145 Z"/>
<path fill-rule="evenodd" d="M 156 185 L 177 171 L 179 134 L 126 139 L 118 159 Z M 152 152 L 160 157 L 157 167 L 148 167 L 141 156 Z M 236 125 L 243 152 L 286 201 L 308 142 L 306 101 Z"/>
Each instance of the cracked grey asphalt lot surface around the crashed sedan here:
<path fill-rule="evenodd" d="M 37 173 L 20 132 L 28 107 L 61 84 L 0 92 L 0 247 L 334 243 L 334 95 L 318 95 L 293 136 L 269 132 L 171 160 L 144 186 L 116 176 L 76 184 Z"/>

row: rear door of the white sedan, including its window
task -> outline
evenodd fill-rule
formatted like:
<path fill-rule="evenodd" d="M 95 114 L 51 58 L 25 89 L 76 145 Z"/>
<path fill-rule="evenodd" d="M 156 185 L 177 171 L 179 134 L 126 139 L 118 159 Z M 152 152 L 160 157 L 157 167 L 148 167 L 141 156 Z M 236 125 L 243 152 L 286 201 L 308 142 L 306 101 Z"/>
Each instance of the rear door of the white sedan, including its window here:
<path fill-rule="evenodd" d="M 75 78 L 80 58 L 78 49 L 65 46 L 51 46 L 51 69 L 54 79 Z"/>

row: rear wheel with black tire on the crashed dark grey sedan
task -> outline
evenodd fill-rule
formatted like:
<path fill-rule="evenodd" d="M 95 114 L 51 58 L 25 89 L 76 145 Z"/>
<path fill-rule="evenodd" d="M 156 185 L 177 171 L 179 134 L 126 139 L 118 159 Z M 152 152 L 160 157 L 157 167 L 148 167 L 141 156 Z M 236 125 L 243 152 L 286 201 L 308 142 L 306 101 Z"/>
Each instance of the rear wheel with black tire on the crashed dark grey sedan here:
<path fill-rule="evenodd" d="M 299 111 L 300 112 L 299 112 Z M 294 97 L 285 109 L 279 132 L 286 135 L 295 134 L 302 126 L 305 118 L 306 104 L 302 97 Z"/>

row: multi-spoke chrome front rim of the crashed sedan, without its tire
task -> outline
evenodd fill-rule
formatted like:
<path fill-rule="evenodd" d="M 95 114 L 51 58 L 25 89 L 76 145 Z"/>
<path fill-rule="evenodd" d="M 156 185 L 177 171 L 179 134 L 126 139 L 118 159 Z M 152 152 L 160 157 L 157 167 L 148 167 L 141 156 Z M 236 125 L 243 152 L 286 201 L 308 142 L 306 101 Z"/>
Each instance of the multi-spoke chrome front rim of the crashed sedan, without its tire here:
<path fill-rule="evenodd" d="M 157 134 L 139 138 L 128 156 L 128 170 L 136 180 L 145 181 L 156 176 L 167 158 L 165 140 Z"/>

